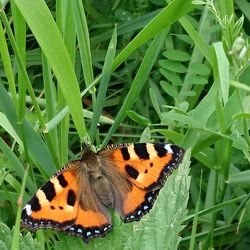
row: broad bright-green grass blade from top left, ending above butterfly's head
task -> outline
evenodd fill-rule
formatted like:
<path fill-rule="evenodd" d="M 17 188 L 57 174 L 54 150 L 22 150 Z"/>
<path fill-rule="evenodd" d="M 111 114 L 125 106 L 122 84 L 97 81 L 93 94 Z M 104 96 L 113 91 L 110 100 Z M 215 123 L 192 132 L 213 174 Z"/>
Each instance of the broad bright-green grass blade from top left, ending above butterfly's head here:
<path fill-rule="evenodd" d="M 57 77 L 60 90 L 69 106 L 79 136 L 81 138 L 86 137 L 87 132 L 76 75 L 67 49 L 48 7 L 42 0 L 14 0 L 14 2 L 24 16 Z"/>

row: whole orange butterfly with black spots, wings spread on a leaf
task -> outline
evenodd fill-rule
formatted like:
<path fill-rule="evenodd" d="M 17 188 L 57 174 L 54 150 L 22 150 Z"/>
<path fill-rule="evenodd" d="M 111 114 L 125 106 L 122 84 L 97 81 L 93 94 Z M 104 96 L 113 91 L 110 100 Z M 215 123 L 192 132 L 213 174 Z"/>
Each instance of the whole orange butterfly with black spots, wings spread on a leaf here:
<path fill-rule="evenodd" d="M 185 150 L 166 143 L 89 147 L 46 182 L 25 205 L 21 222 L 31 231 L 52 228 L 85 242 L 112 229 L 108 208 L 123 222 L 139 221 L 152 208 Z"/>

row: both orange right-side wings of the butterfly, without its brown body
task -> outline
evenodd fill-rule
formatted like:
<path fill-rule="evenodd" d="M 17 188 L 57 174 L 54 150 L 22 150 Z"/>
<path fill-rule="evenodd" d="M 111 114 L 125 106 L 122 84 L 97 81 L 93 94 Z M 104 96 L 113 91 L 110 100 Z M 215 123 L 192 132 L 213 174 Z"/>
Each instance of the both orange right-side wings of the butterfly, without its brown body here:
<path fill-rule="evenodd" d="M 140 220 L 153 206 L 161 187 L 179 163 L 184 149 L 165 143 L 135 143 L 108 146 L 98 152 L 105 165 L 118 168 L 132 188 L 123 194 L 116 210 L 124 222 Z M 125 190 L 125 189 L 124 189 Z"/>

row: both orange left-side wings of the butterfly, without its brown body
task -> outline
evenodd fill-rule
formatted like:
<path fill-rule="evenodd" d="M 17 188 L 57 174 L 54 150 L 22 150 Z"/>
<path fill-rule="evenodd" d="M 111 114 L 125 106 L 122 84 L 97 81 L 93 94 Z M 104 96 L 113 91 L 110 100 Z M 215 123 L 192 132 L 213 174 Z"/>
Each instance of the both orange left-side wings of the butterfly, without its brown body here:
<path fill-rule="evenodd" d="M 94 212 L 89 207 L 83 208 L 80 202 L 80 190 L 84 186 L 78 184 L 79 165 L 80 161 L 70 162 L 37 191 L 22 211 L 24 227 L 32 231 L 53 228 L 80 236 L 85 242 L 111 230 L 104 207 Z M 86 190 L 91 190 L 91 187 Z M 96 203 L 100 205 L 98 200 Z"/>

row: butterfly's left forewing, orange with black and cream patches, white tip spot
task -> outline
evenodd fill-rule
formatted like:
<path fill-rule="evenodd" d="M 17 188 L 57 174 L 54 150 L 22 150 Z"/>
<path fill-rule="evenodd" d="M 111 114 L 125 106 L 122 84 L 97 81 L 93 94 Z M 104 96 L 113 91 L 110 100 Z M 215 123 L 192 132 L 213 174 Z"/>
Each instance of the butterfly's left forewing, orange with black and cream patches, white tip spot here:
<path fill-rule="evenodd" d="M 32 230 L 38 228 L 64 229 L 77 216 L 79 199 L 75 168 L 71 162 L 43 185 L 22 212 L 22 224 Z"/>

